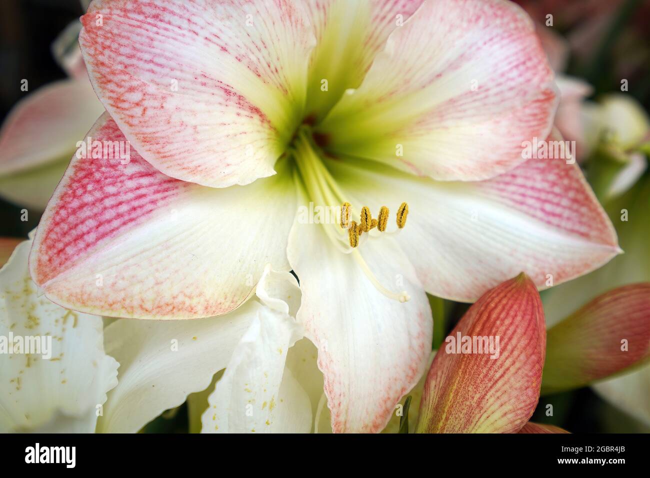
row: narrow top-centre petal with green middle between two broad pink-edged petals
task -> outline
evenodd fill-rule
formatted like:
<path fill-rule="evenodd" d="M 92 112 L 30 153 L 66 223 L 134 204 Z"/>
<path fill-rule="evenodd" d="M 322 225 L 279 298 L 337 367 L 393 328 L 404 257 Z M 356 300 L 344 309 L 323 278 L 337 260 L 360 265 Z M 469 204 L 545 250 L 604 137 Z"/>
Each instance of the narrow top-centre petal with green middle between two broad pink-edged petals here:
<path fill-rule="evenodd" d="M 386 40 L 423 0 L 302 0 L 316 47 L 309 63 L 305 115 L 322 118 L 347 88 L 357 88 Z M 322 80 L 328 81 L 323 91 Z"/>

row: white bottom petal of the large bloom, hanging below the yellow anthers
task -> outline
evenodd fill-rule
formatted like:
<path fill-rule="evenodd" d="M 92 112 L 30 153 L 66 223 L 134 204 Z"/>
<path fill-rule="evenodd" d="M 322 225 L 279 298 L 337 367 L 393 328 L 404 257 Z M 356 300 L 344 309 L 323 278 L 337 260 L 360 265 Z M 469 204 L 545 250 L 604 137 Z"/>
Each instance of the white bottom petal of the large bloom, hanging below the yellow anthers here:
<path fill-rule="evenodd" d="M 318 348 L 332 430 L 379 432 L 424 372 L 431 310 L 411 264 L 390 237 L 359 250 L 382 284 L 406 289 L 406 303 L 379 293 L 352 255 L 333 246 L 324 227 L 331 225 L 296 222 L 291 231 L 289 261 L 302 290 L 297 318 Z"/>

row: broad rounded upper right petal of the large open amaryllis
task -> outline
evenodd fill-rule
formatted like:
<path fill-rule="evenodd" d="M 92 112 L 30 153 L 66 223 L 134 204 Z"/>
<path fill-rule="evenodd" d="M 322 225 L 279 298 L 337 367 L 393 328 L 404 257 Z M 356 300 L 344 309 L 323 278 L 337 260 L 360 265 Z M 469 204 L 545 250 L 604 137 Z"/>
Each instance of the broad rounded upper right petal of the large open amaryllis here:
<path fill-rule="evenodd" d="M 553 72 L 532 21 L 503 0 L 428 1 L 326 118 L 337 153 L 441 180 L 487 179 L 551 131 Z"/>

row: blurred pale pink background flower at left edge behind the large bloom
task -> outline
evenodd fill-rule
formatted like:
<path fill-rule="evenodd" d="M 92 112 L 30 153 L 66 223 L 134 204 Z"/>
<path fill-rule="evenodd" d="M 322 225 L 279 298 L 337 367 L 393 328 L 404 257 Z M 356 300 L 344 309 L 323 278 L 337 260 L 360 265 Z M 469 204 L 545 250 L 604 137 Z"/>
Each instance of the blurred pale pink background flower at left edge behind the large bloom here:
<path fill-rule="evenodd" d="M 0 129 L 0 196 L 43 211 L 88 128 L 104 107 L 97 100 L 77 44 L 81 23 L 74 21 L 52 50 L 69 78 L 26 96 Z"/>

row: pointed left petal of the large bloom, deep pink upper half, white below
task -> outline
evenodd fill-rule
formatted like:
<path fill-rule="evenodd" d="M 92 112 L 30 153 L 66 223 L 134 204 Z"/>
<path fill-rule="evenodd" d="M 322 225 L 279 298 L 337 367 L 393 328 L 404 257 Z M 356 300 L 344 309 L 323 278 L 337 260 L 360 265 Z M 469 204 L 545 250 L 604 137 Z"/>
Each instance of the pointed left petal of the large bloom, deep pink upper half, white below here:
<path fill-rule="evenodd" d="M 108 113 L 88 136 L 125 141 Z M 165 176 L 133 148 L 123 162 L 73 157 L 30 256 L 49 299 L 114 317 L 209 317 L 239 306 L 266 263 L 288 270 L 288 175 L 214 189 Z"/>

